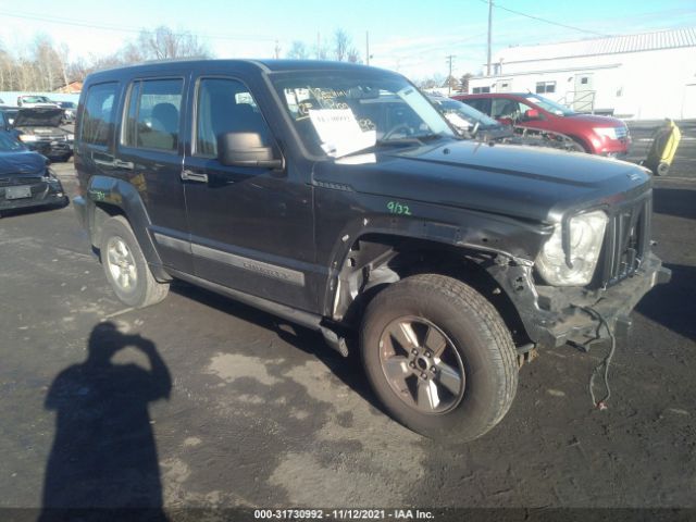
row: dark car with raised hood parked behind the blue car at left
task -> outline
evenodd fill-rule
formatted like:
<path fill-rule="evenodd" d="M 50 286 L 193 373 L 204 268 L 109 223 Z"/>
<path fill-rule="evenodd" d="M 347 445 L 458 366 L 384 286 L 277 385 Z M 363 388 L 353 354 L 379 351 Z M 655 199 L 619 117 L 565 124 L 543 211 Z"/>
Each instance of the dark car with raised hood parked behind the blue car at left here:
<path fill-rule="evenodd" d="M 73 154 L 74 135 L 61 128 L 63 110 L 58 107 L 20 109 L 12 133 L 27 148 L 51 160 L 67 161 Z"/>

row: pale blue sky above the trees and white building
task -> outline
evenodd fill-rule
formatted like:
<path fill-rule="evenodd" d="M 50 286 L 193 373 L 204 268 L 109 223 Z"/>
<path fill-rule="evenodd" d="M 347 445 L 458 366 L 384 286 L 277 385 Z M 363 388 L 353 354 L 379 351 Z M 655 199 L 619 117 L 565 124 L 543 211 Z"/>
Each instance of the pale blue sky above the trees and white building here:
<path fill-rule="evenodd" d="M 496 0 L 493 48 L 567 41 L 594 34 L 632 34 L 696 26 L 695 0 Z M 50 9 L 48 5 L 50 4 Z M 551 25 L 504 10 L 546 18 L 585 32 Z M 114 52 L 141 28 L 167 25 L 189 30 L 217 58 L 281 55 L 293 40 L 308 47 L 330 40 L 341 27 L 364 60 L 370 32 L 371 64 L 397 70 L 414 79 L 453 73 L 478 73 L 486 61 L 487 0 L 0 0 L 0 41 L 11 52 L 26 50 L 37 33 L 65 44 L 71 58 Z M 594 34 L 593 34 L 594 33 Z"/>

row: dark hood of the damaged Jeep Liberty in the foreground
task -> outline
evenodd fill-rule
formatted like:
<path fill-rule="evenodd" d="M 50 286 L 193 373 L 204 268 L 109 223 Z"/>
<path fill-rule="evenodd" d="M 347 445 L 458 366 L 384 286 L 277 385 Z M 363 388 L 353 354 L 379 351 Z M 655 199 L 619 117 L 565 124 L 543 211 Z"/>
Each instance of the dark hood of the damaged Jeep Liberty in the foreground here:
<path fill-rule="evenodd" d="M 373 163 L 319 162 L 314 179 L 348 184 L 358 192 L 546 223 L 559 222 L 573 209 L 616 203 L 650 188 L 643 167 L 554 149 L 448 141 L 382 150 Z"/>

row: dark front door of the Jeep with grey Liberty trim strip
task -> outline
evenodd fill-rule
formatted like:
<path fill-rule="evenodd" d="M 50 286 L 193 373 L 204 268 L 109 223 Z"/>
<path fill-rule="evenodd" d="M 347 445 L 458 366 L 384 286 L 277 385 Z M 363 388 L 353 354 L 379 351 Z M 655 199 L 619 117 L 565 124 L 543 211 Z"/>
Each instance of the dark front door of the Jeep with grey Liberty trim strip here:
<path fill-rule="evenodd" d="M 244 83 L 200 77 L 188 103 L 195 121 L 182 177 L 196 276 L 313 309 L 306 277 L 314 269 L 311 186 L 291 165 L 272 171 L 217 161 L 224 133 L 254 132 L 277 146 Z"/>

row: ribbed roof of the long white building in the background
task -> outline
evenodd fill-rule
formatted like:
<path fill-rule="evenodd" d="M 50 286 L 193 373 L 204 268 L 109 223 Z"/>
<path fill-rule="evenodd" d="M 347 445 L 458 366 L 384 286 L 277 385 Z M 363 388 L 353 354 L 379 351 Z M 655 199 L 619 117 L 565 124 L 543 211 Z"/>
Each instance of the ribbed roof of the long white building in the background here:
<path fill-rule="evenodd" d="M 502 60 L 504 63 L 514 63 L 551 60 L 555 58 L 655 51 L 658 49 L 675 49 L 680 47 L 696 47 L 696 27 L 538 46 L 509 47 L 498 51 L 494 61 L 499 62 Z"/>

